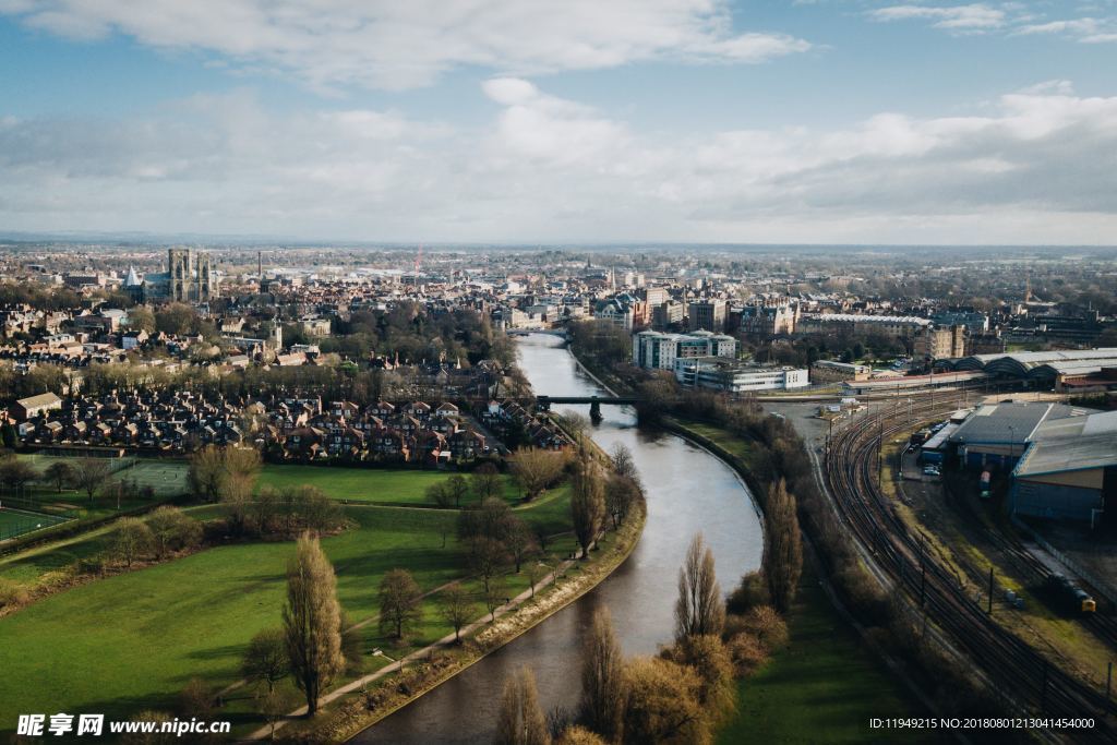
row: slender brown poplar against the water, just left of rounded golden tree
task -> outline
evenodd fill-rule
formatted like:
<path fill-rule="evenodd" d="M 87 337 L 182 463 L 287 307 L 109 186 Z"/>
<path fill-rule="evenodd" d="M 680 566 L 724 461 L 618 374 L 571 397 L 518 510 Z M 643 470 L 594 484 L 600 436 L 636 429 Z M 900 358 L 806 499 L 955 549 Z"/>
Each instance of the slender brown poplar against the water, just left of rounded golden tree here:
<path fill-rule="evenodd" d="M 624 697 L 624 658 L 609 609 L 601 606 L 582 647 L 582 719 L 607 741 L 619 741 Z"/>

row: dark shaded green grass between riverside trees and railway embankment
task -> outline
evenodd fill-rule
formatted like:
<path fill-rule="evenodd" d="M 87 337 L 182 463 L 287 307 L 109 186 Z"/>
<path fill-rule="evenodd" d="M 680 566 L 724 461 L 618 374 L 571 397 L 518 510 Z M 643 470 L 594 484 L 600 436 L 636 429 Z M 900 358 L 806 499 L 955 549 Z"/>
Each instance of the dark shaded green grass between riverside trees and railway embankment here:
<path fill-rule="evenodd" d="M 791 641 L 752 678 L 737 681 L 737 714 L 718 733 L 736 743 L 887 742 L 871 717 L 919 716 L 923 707 L 882 669 L 803 567 L 791 611 Z M 932 742 L 917 732 L 905 743 Z"/>

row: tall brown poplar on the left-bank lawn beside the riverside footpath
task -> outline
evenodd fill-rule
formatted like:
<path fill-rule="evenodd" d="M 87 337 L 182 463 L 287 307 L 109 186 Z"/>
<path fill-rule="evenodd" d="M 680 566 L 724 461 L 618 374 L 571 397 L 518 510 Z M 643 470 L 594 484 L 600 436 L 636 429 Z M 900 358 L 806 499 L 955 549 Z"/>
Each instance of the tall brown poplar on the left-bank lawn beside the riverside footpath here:
<path fill-rule="evenodd" d="M 316 537 L 304 533 L 287 563 L 284 637 L 295 682 L 306 695 L 307 716 L 318 710 L 318 696 L 345 667 L 342 657 L 337 577 Z"/>

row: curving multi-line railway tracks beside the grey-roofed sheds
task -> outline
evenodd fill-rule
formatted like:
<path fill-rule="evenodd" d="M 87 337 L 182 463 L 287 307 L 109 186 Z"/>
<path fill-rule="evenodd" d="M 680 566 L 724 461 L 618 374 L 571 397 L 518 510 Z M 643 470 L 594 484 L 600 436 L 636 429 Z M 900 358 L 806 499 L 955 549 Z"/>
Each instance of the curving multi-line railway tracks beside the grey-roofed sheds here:
<path fill-rule="evenodd" d="M 913 404 L 910 416 L 946 416 L 961 403 L 953 397 L 919 401 Z M 1014 715 L 1092 717 L 1092 729 L 1046 734 L 1070 736 L 1075 742 L 1117 742 L 1113 728 L 1117 706 L 1106 700 L 1105 693 L 1049 663 L 997 624 L 964 589 L 961 577 L 926 551 L 922 537 L 896 514 L 877 481 L 878 462 L 881 443 L 904 431 L 908 421 L 878 409 L 856 417 L 830 439 L 824 476 L 843 522 L 872 555 L 878 571 L 914 604 L 922 605 L 927 619 L 973 660 Z"/>

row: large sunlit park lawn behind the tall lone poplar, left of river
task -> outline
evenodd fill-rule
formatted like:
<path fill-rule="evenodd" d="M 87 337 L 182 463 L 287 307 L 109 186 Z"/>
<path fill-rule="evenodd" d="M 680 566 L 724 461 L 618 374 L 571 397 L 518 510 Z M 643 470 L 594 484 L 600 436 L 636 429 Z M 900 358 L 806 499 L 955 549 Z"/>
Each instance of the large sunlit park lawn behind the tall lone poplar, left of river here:
<path fill-rule="evenodd" d="M 323 546 L 354 621 L 375 613 L 376 588 L 390 569 L 408 567 L 424 590 L 460 576 L 452 531 L 441 547 L 439 524 L 452 522 L 452 513 L 349 513 L 357 526 Z M 192 677 L 214 687 L 237 680 L 247 641 L 280 621 L 293 548 L 290 542 L 211 548 L 82 585 L 0 619 L 0 670 L 6 680 L 20 681 L 0 700 L 0 730 L 13 727 L 19 713 L 166 709 Z M 433 612 L 428 617 L 438 623 Z M 435 625 L 418 633 L 437 636 Z"/>

